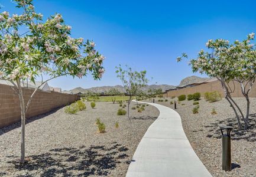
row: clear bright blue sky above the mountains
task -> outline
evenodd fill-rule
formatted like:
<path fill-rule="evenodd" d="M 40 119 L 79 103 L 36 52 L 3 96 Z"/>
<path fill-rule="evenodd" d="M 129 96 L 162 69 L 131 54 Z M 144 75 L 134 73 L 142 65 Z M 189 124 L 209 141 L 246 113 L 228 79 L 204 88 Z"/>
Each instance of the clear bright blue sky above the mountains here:
<path fill-rule="evenodd" d="M 2 11 L 14 13 L 14 4 L 0 0 Z M 128 64 L 147 70 L 150 84 L 179 84 L 193 74 L 186 61 L 176 63 L 183 52 L 196 57 L 208 39 L 242 40 L 256 32 L 256 1 L 70 1 L 37 0 L 35 9 L 46 19 L 56 12 L 72 26 L 73 37 L 96 42 L 106 56 L 101 81 L 91 76 L 62 77 L 50 85 L 74 87 L 114 86 L 115 66 Z"/>

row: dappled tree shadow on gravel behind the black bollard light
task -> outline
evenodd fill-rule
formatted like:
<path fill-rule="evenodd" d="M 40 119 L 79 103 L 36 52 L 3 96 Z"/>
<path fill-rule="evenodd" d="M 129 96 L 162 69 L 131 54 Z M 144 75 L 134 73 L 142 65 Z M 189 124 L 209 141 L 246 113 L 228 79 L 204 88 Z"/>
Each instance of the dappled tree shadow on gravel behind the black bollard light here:
<path fill-rule="evenodd" d="M 227 124 L 234 127 L 234 129 L 231 131 L 232 140 L 247 140 L 248 142 L 256 141 L 256 114 L 249 115 L 249 127 L 247 130 L 238 129 L 235 117 L 231 117 L 215 123 L 210 123 L 209 126 L 205 126 L 209 132 L 206 137 L 221 139 L 221 129 L 219 128 L 220 124 Z M 242 126 L 244 126 L 244 124 L 242 124 Z"/>

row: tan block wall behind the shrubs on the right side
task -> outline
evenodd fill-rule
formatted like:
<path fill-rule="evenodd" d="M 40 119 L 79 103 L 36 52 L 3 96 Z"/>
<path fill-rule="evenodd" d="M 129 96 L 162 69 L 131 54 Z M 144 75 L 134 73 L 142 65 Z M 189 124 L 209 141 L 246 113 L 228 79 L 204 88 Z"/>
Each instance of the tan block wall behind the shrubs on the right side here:
<path fill-rule="evenodd" d="M 232 91 L 235 88 L 234 93 L 231 93 L 232 97 L 244 97 L 242 95 L 241 87 L 238 82 L 234 81 L 234 83 L 233 82 L 230 83 L 229 87 L 231 88 Z M 186 94 L 187 96 L 188 94 L 194 94 L 196 92 L 201 93 L 201 95 L 203 96 L 203 94 L 207 91 L 218 91 L 219 93 L 222 94 L 222 97 L 224 97 L 224 91 L 221 87 L 220 81 L 213 81 L 211 83 L 206 83 L 199 86 L 186 87 L 179 90 L 167 91 L 167 93 L 164 93 L 164 97 L 172 97 L 172 96 L 177 97 L 181 94 Z M 251 93 L 249 93 L 249 97 L 256 97 L 256 84 L 254 84 L 254 86 L 252 87 Z"/>

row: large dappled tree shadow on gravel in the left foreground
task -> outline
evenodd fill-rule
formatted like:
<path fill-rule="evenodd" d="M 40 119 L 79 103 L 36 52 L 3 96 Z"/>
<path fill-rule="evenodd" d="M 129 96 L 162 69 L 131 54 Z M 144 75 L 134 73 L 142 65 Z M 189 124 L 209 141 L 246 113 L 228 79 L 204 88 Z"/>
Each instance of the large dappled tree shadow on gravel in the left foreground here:
<path fill-rule="evenodd" d="M 40 176 L 107 176 L 116 168 L 118 163 L 127 163 L 128 148 L 116 142 L 111 147 L 90 146 L 85 148 L 58 148 L 48 153 L 28 156 L 25 165 L 21 166 L 19 160 L 11 160 L 15 169 L 27 171 L 25 176 L 31 175 L 29 171 Z M 31 172 L 32 173 L 32 172 Z"/>

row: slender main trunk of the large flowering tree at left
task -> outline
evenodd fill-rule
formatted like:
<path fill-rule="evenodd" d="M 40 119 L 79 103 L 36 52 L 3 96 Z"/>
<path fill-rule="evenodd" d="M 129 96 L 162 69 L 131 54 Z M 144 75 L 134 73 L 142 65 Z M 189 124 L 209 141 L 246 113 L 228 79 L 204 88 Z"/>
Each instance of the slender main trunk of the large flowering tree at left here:
<path fill-rule="evenodd" d="M 21 163 L 24 164 L 25 162 L 25 104 L 24 104 L 24 97 L 21 89 L 20 80 L 17 80 L 18 86 L 18 96 L 20 100 L 20 107 L 21 107 Z"/>

